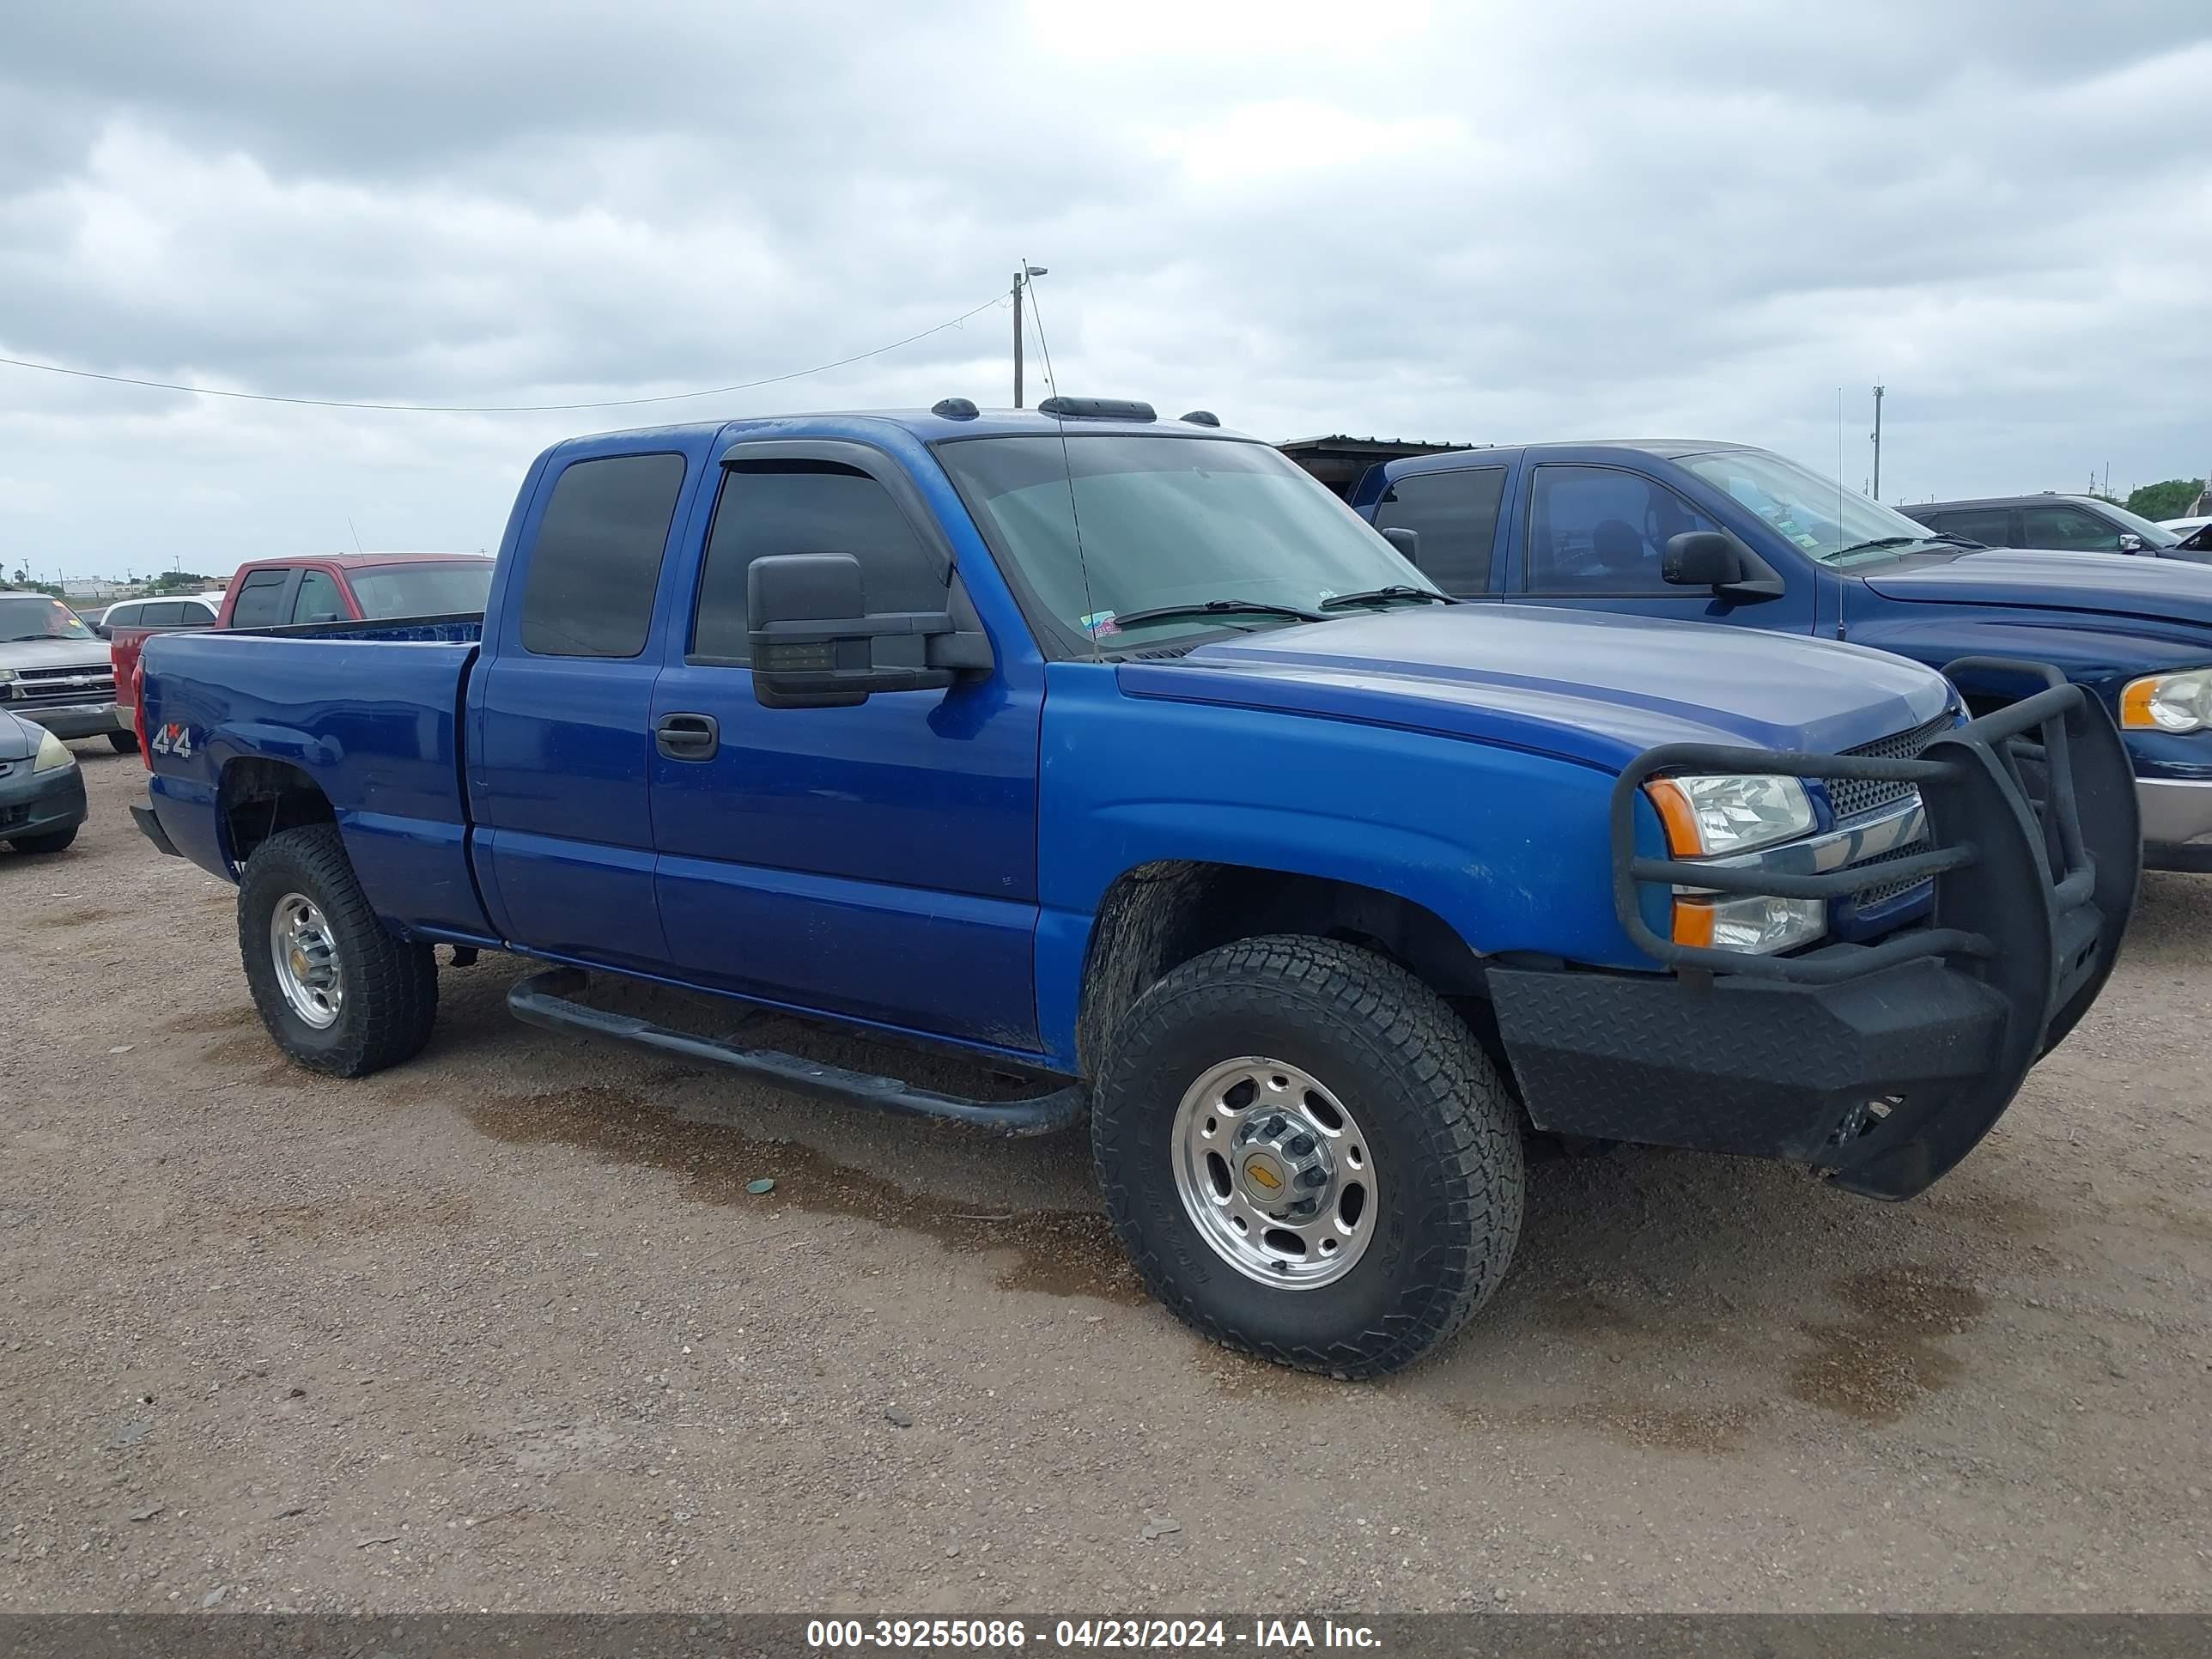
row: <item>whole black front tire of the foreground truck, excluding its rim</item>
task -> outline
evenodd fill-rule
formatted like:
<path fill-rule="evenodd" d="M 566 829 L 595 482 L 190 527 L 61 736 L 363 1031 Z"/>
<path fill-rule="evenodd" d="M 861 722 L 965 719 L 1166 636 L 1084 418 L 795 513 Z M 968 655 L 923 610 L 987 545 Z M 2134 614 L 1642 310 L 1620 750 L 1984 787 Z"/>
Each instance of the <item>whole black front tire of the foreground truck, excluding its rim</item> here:
<path fill-rule="evenodd" d="M 1378 1230 L 1334 1283 L 1245 1276 L 1177 1194 L 1177 1104 L 1239 1055 L 1305 1068 L 1365 1130 L 1383 1177 Z M 1152 1294 L 1217 1343 L 1305 1371 L 1411 1365 L 1489 1301 L 1520 1239 L 1520 1113 L 1498 1071 L 1429 987 L 1338 940 L 1223 945 L 1146 991 L 1108 1037 L 1091 1150 Z"/>

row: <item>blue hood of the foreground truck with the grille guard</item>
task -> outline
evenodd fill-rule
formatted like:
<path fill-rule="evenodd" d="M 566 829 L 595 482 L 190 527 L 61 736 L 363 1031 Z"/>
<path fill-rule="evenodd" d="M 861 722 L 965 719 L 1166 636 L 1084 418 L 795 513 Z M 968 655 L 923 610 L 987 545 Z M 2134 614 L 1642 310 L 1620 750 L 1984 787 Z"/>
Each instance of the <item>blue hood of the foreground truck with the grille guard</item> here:
<path fill-rule="evenodd" d="M 1655 743 L 1834 752 L 1936 719 L 1942 675 L 1759 628 L 1458 604 L 1126 661 L 1130 697 L 1436 730 L 1624 768 Z"/>

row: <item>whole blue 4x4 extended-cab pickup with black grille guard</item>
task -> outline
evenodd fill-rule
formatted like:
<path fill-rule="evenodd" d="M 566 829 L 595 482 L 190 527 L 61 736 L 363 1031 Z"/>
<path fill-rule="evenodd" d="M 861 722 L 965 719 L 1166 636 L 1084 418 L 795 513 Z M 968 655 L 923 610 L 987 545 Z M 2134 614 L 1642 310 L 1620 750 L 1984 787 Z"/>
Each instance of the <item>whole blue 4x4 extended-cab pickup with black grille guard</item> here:
<path fill-rule="evenodd" d="M 2011 664 L 1453 604 L 1206 411 L 549 449 L 482 617 L 146 646 L 148 836 L 239 887 L 301 1064 L 511 1009 L 1044 1133 L 1206 1334 L 1400 1367 L 1498 1285 L 1524 1133 L 1909 1197 L 2097 995 L 2139 832 Z M 633 975 L 1035 1077 L 962 1099 L 597 1006 Z M 602 998 L 604 1002 L 606 998 Z"/>

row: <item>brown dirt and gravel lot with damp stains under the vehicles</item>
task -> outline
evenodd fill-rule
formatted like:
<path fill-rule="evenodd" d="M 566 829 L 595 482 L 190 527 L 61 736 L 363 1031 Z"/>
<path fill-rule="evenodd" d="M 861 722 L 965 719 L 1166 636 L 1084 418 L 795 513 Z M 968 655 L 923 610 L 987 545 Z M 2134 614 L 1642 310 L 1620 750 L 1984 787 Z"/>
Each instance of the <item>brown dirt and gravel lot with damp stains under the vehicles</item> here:
<path fill-rule="evenodd" d="M 0 849 L 0 1608 L 2212 1604 L 2212 878 L 1929 1197 L 1540 1164 L 1349 1387 L 1146 1303 L 1082 1135 L 549 1037 L 513 960 L 290 1068 L 77 750 L 75 849 Z"/>

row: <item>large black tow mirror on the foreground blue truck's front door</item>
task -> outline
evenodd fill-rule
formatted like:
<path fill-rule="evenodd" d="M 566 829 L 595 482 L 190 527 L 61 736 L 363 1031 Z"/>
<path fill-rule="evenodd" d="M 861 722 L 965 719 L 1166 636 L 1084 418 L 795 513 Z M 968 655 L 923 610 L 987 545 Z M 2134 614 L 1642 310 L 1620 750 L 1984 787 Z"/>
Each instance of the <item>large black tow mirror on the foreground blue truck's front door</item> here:
<path fill-rule="evenodd" d="M 945 611 L 869 613 L 852 553 L 776 553 L 745 571 L 752 695 L 761 708 L 854 708 L 876 692 L 942 690 L 991 668 L 991 641 Z"/>

